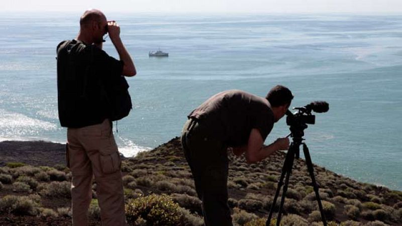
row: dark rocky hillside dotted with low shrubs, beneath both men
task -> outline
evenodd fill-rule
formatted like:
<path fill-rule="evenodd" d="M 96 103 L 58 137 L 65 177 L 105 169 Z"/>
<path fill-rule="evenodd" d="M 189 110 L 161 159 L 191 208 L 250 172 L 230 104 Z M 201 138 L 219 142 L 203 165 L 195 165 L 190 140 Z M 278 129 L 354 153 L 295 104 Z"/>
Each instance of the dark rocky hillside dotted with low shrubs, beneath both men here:
<path fill-rule="evenodd" d="M 229 204 L 235 224 L 265 225 L 284 156 L 285 153 L 279 152 L 260 163 L 249 165 L 243 157 L 230 155 Z M 0 200 L 3 200 L 3 204 L 0 201 L 0 225 L 71 224 L 68 212 L 71 174 L 63 165 L 64 145 L 48 142 L 2 142 L 0 159 L 0 164 L 4 166 L 0 168 L 0 181 L 3 183 L 0 186 Z M 329 225 L 402 225 L 402 192 L 360 183 L 320 166 L 315 166 L 315 169 L 325 214 L 332 221 Z M 148 195 L 162 197 L 161 194 L 167 194 L 173 204 L 179 205 L 171 206 L 178 209 L 184 219 L 175 225 L 202 224 L 200 201 L 196 198 L 179 139 L 175 138 L 152 151 L 125 159 L 122 172 L 127 206 L 135 206 L 136 202 L 150 197 Z M 6 208 L 4 199 L 10 195 L 26 196 L 31 200 L 38 200 L 35 202 L 38 204 L 28 210 L 17 211 L 10 206 Z M 94 204 L 91 204 L 89 210 L 90 225 L 99 225 L 95 182 L 93 198 Z M 149 204 L 152 201 L 147 202 Z M 282 224 L 320 225 L 321 218 L 316 203 L 306 164 L 303 159 L 296 160 L 286 193 Z M 130 211 L 127 216 L 130 225 L 154 224 L 151 222 L 152 217 L 142 215 L 142 218 L 138 218 Z"/>

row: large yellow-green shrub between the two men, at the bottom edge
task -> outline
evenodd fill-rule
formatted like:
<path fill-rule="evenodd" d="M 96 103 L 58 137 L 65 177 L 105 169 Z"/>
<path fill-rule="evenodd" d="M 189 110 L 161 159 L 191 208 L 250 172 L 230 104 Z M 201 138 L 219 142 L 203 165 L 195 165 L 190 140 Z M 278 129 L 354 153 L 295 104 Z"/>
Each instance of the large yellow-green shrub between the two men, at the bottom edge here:
<path fill-rule="evenodd" d="M 180 225 L 182 214 L 179 208 L 168 195 L 152 194 L 129 200 L 126 204 L 126 216 L 129 222 L 141 217 L 150 225 Z"/>

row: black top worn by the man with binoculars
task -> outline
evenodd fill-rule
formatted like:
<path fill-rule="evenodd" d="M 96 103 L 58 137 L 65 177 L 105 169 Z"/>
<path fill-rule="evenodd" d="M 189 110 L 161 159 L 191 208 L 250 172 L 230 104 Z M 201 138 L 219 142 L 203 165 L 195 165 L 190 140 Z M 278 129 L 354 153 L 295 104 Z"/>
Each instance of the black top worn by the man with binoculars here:
<path fill-rule="evenodd" d="M 81 128 L 110 116 L 106 87 L 121 76 L 123 61 L 94 45 L 71 40 L 57 46 L 58 112 L 62 127 Z"/>

